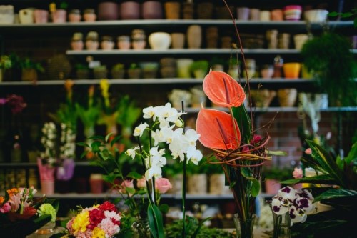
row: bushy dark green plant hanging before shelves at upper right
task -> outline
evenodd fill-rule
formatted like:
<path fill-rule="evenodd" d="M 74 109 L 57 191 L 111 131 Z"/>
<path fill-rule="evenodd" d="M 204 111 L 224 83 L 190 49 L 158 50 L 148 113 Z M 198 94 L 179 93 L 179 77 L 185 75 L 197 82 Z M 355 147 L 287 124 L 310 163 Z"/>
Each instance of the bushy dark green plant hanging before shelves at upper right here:
<path fill-rule="evenodd" d="M 322 93 L 332 106 L 357 104 L 357 63 L 346 36 L 325 32 L 306 41 L 301 49 L 303 65 L 313 72 Z"/>

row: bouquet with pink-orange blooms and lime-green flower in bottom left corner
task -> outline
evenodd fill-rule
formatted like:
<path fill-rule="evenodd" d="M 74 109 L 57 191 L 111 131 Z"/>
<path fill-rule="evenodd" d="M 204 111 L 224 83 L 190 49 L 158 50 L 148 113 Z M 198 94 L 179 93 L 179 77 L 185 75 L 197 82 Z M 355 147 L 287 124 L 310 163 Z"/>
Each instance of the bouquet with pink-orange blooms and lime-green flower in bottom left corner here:
<path fill-rule="evenodd" d="M 6 237 L 25 237 L 44 224 L 54 222 L 58 202 L 46 198 L 34 199 L 36 189 L 12 188 L 0 196 L 1 234 Z"/>

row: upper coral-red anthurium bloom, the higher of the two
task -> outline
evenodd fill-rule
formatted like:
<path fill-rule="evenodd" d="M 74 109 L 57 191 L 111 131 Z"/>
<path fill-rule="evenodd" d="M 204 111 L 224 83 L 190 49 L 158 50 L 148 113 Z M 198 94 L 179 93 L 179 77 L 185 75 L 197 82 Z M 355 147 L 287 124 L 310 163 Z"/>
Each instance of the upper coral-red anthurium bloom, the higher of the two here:
<path fill-rule="evenodd" d="M 221 71 L 209 71 L 203 79 L 203 91 L 214 104 L 223 107 L 241 106 L 246 99 L 241 84 Z"/>

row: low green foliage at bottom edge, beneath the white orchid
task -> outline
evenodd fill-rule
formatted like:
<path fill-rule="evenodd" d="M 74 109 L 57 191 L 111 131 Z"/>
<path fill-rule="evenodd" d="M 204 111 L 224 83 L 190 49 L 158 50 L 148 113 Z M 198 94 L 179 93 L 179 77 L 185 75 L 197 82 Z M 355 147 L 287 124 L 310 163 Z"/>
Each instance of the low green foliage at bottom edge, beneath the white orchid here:
<path fill-rule="evenodd" d="M 198 222 L 196 218 L 187 217 L 187 232 L 186 238 L 233 238 L 234 235 L 226 232 L 223 229 L 209 228 Z M 182 237 L 182 220 L 176 220 L 171 224 L 167 224 L 165 228 L 166 238 L 181 238 Z"/>

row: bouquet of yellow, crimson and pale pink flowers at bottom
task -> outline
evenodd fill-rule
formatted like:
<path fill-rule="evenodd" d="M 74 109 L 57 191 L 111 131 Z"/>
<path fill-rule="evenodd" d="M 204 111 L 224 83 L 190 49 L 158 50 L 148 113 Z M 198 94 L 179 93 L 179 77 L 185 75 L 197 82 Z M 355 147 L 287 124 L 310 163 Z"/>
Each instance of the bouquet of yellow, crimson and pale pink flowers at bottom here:
<path fill-rule="evenodd" d="M 111 202 L 80 209 L 66 225 L 70 237 L 114 237 L 121 231 L 121 213 Z"/>

